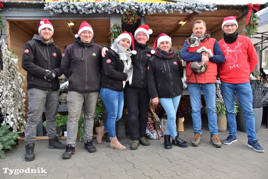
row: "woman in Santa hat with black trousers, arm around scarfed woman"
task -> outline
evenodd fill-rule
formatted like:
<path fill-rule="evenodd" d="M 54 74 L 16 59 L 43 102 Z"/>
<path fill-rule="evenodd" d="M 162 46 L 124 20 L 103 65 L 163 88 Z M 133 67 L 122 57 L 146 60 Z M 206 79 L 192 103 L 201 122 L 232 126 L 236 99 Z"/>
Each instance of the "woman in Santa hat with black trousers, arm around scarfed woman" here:
<path fill-rule="evenodd" d="M 147 66 L 151 57 L 151 48 L 148 47 L 149 35 L 152 30 L 148 25 L 141 25 L 134 34 L 134 43 L 137 54 L 132 54 L 133 77 L 132 83 L 126 83 L 124 89 L 125 105 L 128 110 L 128 127 L 132 144 L 130 149 L 135 150 L 141 143 L 150 145 L 145 138 L 150 94 L 147 87 Z M 103 47 L 102 56 L 105 56 L 107 48 Z"/>

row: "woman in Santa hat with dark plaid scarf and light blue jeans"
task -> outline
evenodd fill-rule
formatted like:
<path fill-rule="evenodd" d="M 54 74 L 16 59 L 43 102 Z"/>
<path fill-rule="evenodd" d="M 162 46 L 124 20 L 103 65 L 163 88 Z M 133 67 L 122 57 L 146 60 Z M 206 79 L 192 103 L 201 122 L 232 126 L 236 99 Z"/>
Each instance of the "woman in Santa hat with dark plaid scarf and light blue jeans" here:
<path fill-rule="evenodd" d="M 176 112 L 183 93 L 183 66 L 171 49 L 171 38 L 162 33 L 154 42 L 155 55 L 148 61 L 148 89 L 152 101 L 158 100 L 168 116 L 164 145 L 171 149 L 172 144 L 187 147 L 189 144 L 179 138 L 176 131 Z M 170 143 L 172 137 L 172 144 Z"/>

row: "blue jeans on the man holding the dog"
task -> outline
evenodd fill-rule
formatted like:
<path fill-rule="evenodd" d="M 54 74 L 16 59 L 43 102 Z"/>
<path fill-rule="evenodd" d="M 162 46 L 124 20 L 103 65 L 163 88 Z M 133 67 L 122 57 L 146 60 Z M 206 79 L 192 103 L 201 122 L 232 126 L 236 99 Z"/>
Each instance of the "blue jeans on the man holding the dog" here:
<path fill-rule="evenodd" d="M 204 93 L 209 121 L 210 134 L 218 134 L 216 112 L 216 85 L 215 83 L 188 83 L 192 107 L 193 132 L 202 134 L 201 126 L 201 90 Z"/>

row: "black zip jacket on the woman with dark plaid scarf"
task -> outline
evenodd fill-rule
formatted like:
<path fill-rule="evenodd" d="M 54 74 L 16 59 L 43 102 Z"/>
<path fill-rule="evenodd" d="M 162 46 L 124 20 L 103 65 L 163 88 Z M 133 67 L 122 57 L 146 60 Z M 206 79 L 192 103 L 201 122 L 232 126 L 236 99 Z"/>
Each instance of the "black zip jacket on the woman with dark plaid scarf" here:
<path fill-rule="evenodd" d="M 151 98 L 171 98 L 183 93 L 183 66 L 175 55 L 162 59 L 154 55 L 148 61 L 148 89 Z"/>

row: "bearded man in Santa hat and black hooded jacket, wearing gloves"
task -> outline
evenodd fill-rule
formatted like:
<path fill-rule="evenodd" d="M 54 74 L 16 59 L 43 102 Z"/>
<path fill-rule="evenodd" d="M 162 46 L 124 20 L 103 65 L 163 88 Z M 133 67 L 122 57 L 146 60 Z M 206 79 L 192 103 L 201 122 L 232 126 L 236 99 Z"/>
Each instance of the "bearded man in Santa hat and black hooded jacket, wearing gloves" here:
<path fill-rule="evenodd" d="M 47 136 L 49 148 L 65 149 L 56 136 L 57 120 L 55 115 L 59 107 L 59 79 L 62 75 L 61 50 L 54 45 L 54 29 L 48 19 L 42 19 L 31 41 L 24 45 L 21 66 L 27 71 L 28 119 L 25 127 L 25 160 L 34 160 L 34 141 L 36 127 L 40 122 L 44 107 L 46 108 Z"/>

